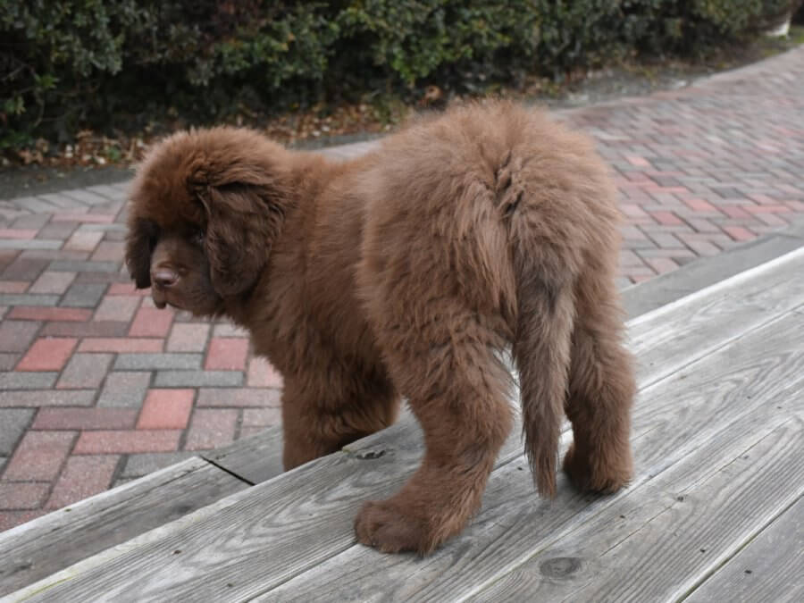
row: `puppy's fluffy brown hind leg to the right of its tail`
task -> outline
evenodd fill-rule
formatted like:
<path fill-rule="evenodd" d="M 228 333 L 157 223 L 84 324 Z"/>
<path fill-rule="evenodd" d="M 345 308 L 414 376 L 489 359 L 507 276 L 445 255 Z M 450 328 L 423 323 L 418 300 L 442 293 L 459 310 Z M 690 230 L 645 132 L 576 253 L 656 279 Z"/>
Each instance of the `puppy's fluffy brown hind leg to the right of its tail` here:
<path fill-rule="evenodd" d="M 574 442 L 564 470 L 577 487 L 600 492 L 619 490 L 632 475 L 629 434 L 635 384 L 611 270 L 590 267 L 578 281 L 565 402 Z"/>

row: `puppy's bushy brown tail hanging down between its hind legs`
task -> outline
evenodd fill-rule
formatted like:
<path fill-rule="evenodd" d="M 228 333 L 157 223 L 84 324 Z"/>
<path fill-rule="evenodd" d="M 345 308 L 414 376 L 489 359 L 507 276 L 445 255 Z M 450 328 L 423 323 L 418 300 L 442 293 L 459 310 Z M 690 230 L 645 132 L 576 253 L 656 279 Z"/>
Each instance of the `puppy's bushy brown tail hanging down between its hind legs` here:
<path fill-rule="evenodd" d="M 540 494 L 552 498 L 574 322 L 572 271 L 561 250 L 534 240 L 526 224 L 513 223 L 512 234 L 517 299 L 512 351 L 525 452 Z"/>

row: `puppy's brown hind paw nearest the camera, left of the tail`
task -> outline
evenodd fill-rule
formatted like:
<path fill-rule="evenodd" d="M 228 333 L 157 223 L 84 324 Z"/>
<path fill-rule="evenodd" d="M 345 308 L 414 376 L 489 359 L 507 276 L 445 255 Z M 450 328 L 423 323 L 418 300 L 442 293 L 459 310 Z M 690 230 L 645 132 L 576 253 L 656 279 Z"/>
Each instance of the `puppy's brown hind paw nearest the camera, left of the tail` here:
<path fill-rule="evenodd" d="M 421 521 L 393 499 L 367 502 L 355 519 L 357 540 L 383 553 L 415 551 L 426 555 L 437 542 Z"/>

